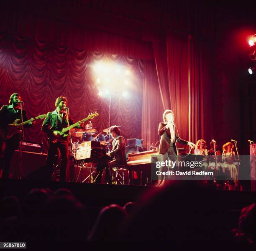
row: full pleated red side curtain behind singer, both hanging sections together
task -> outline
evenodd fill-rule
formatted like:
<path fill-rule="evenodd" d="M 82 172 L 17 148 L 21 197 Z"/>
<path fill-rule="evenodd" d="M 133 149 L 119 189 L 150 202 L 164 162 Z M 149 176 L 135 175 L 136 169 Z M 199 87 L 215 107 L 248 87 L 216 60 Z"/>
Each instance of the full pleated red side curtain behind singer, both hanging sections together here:
<path fill-rule="evenodd" d="M 212 85 L 207 47 L 188 35 L 167 32 L 166 46 L 154 42 L 153 48 L 163 108 L 174 111 L 180 137 L 208 141 L 212 134 Z"/>

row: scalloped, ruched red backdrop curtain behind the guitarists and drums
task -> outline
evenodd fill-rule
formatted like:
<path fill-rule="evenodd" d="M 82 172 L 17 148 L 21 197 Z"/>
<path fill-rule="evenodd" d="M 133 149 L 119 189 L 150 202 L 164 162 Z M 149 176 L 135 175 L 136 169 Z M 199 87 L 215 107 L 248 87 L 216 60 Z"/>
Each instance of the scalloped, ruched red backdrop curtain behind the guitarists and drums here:
<path fill-rule="evenodd" d="M 92 120 L 100 132 L 108 127 L 109 100 L 100 98 L 95 88 L 91 66 L 95 61 L 120 63 L 133 74 L 131 98 L 113 96 L 111 124 L 121 125 L 125 138 L 141 137 L 142 63 L 138 59 L 107 53 L 78 51 L 31 38 L 8 33 L 0 34 L 0 105 L 8 103 L 14 92 L 21 94 L 28 117 L 36 117 L 55 109 L 58 96 L 66 96 L 74 120 L 83 119 L 89 112 L 100 116 Z M 26 130 L 25 139 L 43 142 L 42 122 Z"/>

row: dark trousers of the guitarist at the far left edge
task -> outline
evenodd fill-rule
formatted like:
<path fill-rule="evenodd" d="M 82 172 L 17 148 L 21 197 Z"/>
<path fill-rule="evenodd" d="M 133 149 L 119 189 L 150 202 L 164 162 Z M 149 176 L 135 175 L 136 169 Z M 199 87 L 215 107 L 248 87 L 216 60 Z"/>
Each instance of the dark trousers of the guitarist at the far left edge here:
<path fill-rule="evenodd" d="M 5 144 L 3 159 L 1 161 L 1 166 L 3 167 L 2 179 L 8 180 L 10 175 L 10 162 L 12 160 L 13 153 L 19 147 L 19 134 L 14 134 L 13 137 L 8 140 L 1 140 L 1 144 Z"/>

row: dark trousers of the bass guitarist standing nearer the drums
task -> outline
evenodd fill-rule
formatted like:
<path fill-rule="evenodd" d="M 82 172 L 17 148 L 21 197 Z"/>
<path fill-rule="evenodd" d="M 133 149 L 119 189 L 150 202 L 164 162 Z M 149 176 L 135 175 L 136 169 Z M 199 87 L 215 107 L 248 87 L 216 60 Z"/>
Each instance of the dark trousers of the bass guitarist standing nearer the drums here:
<path fill-rule="evenodd" d="M 46 180 L 51 180 L 54 156 L 56 155 L 58 149 L 61 154 L 60 181 L 64 182 L 66 181 L 66 171 L 69 162 L 69 142 L 67 139 L 61 139 L 55 144 L 50 143 L 45 163 L 45 178 Z"/>

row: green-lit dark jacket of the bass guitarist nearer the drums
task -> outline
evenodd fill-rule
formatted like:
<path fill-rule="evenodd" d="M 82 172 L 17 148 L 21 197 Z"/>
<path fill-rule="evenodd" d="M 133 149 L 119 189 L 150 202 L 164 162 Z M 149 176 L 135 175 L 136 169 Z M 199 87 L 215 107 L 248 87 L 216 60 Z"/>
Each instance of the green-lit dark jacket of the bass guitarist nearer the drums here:
<path fill-rule="evenodd" d="M 74 120 L 69 115 L 69 125 L 74 124 Z M 47 135 L 51 135 L 53 131 L 61 131 L 63 128 L 68 126 L 66 117 L 62 119 L 62 122 L 58 119 L 57 111 L 48 112 L 47 117 L 44 119 L 42 125 L 42 131 L 46 132 Z M 80 128 L 80 126 L 77 126 Z M 68 137 L 67 137 L 68 138 Z"/>

